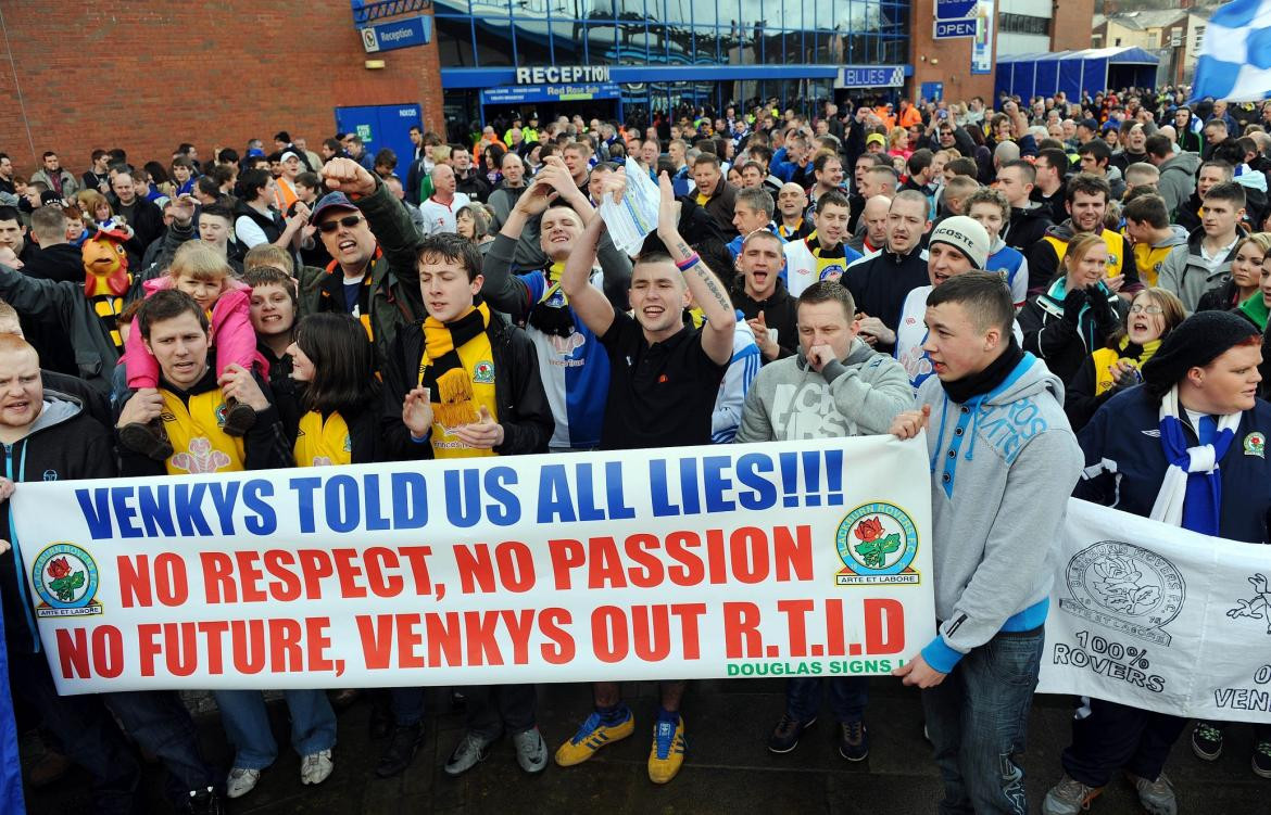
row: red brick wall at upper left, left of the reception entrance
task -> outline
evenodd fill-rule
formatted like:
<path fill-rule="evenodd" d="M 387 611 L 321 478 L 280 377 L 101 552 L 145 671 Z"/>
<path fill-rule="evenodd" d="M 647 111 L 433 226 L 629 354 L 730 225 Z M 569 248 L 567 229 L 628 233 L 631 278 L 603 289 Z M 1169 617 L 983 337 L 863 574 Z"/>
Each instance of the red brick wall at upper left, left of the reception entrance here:
<path fill-rule="evenodd" d="M 316 150 L 344 105 L 419 103 L 444 126 L 436 44 L 374 55 L 386 65 L 369 70 L 348 3 L 23 0 L 3 14 L 0 151 L 19 174 L 46 150 L 79 174 L 95 147 L 167 164 L 187 141 L 201 159 L 248 138 L 272 150 L 280 129 Z"/>

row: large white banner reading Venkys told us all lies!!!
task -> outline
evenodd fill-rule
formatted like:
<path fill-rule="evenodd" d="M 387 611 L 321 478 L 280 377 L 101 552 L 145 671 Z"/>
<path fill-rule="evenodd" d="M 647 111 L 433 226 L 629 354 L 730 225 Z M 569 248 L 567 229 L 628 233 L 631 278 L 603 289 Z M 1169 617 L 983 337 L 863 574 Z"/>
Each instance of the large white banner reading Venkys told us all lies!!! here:
<path fill-rule="evenodd" d="M 22 484 L 61 693 L 881 674 L 934 636 L 925 441 Z"/>

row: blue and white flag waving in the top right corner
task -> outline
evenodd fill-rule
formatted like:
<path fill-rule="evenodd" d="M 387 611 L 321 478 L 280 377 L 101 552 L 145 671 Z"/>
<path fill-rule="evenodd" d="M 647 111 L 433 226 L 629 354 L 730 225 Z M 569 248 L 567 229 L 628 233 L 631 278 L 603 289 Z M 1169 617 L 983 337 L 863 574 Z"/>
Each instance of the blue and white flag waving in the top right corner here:
<path fill-rule="evenodd" d="M 1271 0 L 1233 0 L 1214 11 L 1196 61 L 1192 99 L 1271 98 Z"/>

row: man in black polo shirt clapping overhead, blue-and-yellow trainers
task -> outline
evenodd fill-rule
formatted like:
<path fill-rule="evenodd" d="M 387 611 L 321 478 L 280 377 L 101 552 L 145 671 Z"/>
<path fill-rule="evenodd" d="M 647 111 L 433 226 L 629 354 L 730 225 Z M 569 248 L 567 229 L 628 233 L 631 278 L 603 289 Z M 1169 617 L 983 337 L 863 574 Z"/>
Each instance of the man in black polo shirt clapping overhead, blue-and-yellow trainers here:
<path fill-rule="evenodd" d="M 656 235 L 651 235 L 632 270 L 634 316 L 616 311 L 590 281 L 604 221 L 592 216 L 577 251 L 566 263 L 561 287 L 578 317 L 609 353 L 610 381 L 602 449 L 639 449 L 710 443 L 710 420 L 724 371 L 732 359 L 736 316 L 723 284 L 679 231 L 679 206 L 666 173 L 658 176 Z M 700 306 L 705 322 L 689 329 L 683 311 Z M 653 725 L 648 777 L 675 778 L 684 763 L 685 680 L 662 682 Z M 555 753 L 561 767 L 581 764 L 600 748 L 636 729 L 619 683 L 592 684 L 595 712 Z"/>

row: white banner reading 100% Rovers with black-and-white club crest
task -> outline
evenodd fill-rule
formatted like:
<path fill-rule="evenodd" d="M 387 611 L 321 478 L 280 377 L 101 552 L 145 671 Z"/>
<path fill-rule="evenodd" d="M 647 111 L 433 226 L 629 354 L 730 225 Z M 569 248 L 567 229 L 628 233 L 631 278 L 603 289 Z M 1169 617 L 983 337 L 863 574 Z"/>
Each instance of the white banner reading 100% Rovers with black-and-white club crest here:
<path fill-rule="evenodd" d="M 1271 547 L 1071 499 L 1041 693 L 1271 722 Z"/>

